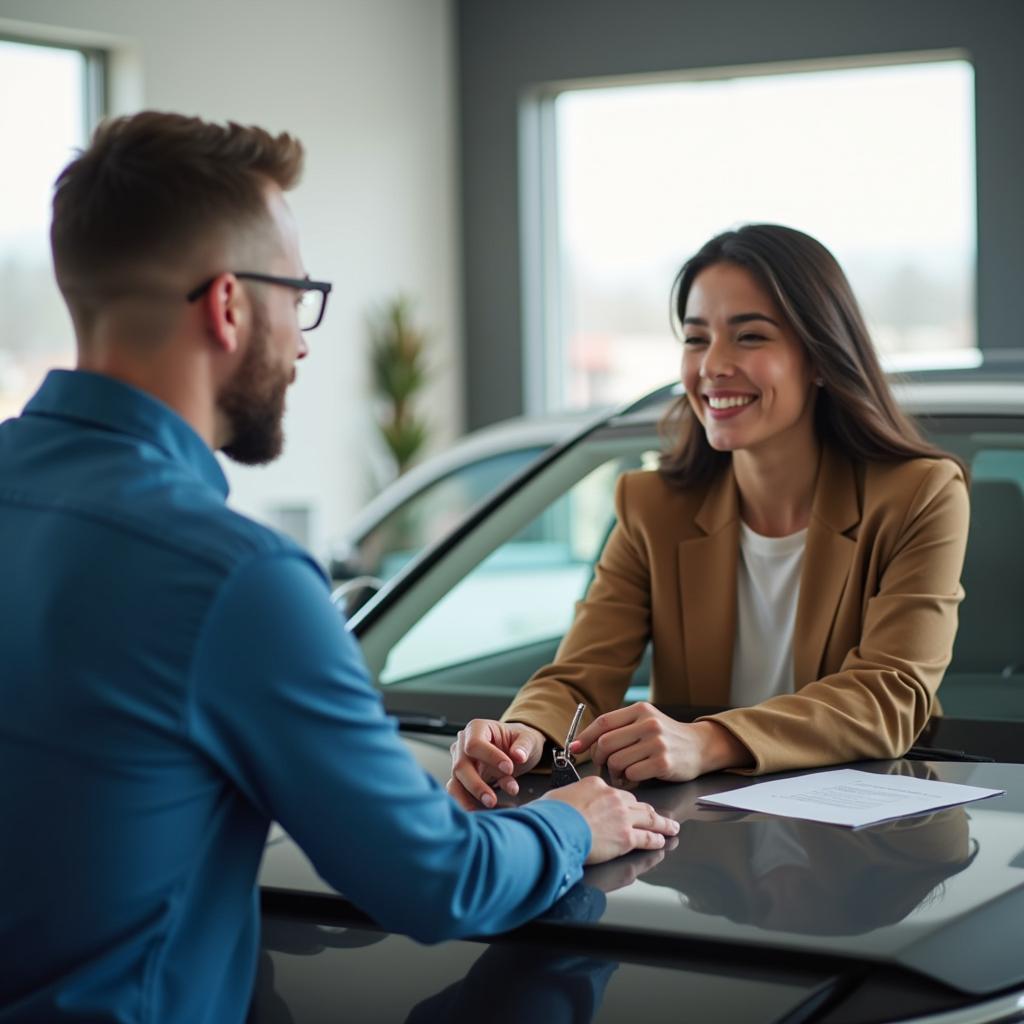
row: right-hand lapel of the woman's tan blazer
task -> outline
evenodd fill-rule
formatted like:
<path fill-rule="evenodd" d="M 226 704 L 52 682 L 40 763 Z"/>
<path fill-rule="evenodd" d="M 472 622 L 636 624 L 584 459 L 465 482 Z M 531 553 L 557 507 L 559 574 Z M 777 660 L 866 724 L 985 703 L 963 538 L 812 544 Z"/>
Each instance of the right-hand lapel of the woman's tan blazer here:
<path fill-rule="evenodd" d="M 856 549 L 856 542 L 846 534 L 858 522 L 860 501 L 853 466 L 844 455 L 825 447 L 814 489 L 797 600 L 793 677 L 798 690 L 820 674 Z"/>

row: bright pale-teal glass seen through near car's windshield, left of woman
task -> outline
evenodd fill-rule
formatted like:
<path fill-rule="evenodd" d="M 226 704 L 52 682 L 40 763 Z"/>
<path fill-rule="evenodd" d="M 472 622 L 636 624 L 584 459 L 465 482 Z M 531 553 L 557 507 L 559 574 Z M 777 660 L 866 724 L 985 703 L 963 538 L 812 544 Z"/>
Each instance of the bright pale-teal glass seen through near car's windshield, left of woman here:
<path fill-rule="evenodd" d="M 380 682 L 561 637 L 611 528 L 615 480 L 639 465 L 639 454 L 609 459 L 560 494 L 394 645 Z"/>

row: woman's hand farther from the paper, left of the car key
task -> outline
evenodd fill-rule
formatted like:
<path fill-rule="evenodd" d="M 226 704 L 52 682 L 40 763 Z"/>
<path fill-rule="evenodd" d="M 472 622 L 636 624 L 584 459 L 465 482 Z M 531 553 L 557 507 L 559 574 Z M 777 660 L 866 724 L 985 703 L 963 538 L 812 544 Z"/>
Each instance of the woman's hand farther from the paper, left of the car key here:
<path fill-rule="evenodd" d="M 545 738 L 519 722 L 474 718 L 452 744 L 447 792 L 468 811 L 498 803 L 492 786 L 514 797 L 519 792 L 515 776 L 537 767 Z"/>

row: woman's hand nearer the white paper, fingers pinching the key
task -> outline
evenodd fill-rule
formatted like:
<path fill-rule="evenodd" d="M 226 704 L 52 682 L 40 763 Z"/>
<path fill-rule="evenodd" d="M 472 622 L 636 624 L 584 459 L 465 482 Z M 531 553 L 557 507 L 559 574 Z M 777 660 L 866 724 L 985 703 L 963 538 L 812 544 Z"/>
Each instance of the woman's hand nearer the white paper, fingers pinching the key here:
<path fill-rule="evenodd" d="M 677 722 L 646 701 L 594 719 L 569 750 L 590 750 L 594 764 L 607 764 L 631 782 L 686 782 L 710 771 L 754 763 L 750 751 L 724 726 Z"/>

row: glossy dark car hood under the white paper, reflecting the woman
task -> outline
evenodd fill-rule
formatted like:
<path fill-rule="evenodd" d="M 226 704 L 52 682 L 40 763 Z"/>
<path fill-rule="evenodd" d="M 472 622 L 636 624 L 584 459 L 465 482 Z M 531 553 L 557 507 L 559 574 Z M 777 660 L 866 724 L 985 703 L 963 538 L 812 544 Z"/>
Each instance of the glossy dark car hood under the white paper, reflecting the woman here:
<path fill-rule="evenodd" d="M 446 777 L 445 738 L 409 742 L 427 770 Z M 1024 955 L 1007 941 L 1024 920 L 1024 766 L 897 761 L 857 767 L 1007 794 L 852 830 L 696 804 L 702 794 L 760 779 L 723 774 L 644 785 L 637 795 L 682 823 L 678 840 L 664 851 L 588 868 L 583 891 L 600 893 L 600 907 L 592 900 L 581 914 L 556 905 L 526 926 L 526 938 L 563 949 L 584 946 L 616 963 L 624 954 L 648 961 L 671 954 L 684 973 L 687 958 L 701 956 L 718 957 L 719 970 L 737 977 L 746 975 L 743 963 L 806 969 L 811 980 L 797 985 L 805 995 L 844 964 L 883 965 L 962 993 L 1024 984 Z M 536 799 L 548 784 L 543 775 L 528 776 L 519 800 Z M 261 882 L 270 890 L 269 918 L 358 923 L 286 837 L 271 840 Z M 315 902 L 310 894 L 317 894 Z M 454 964 L 441 971 L 444 977 L 458 973 Z M 783 975 L 777 980 L 792 982 Z"/>

